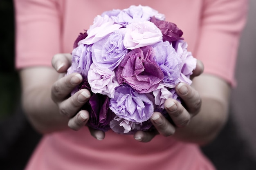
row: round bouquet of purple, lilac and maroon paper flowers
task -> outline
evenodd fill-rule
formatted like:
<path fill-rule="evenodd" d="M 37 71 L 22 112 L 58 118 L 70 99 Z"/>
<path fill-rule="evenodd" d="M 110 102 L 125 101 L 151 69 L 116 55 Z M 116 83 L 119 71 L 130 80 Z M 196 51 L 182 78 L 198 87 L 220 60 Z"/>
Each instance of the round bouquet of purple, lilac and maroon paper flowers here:
<path fill-rule="evenodd" d="M 175 86 L 191 84 L 196 59 L 187 51 L 183 32 L 147 6 L 106 11 L 74 42 L 67 74 L 83 76 L 79 89 L 91 97 L 83 109 L 88 126 L 120 134 L 153 128 L 150 117 L 168 117 L 164 102 L 179 100 Z"/>

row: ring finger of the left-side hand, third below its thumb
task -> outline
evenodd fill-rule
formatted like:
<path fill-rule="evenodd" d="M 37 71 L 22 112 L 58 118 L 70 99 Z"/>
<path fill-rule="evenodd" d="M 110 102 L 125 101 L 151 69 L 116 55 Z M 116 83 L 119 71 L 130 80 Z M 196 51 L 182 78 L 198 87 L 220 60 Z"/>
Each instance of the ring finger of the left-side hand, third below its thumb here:
<path fill-rule="evenodd" d="M 73 130 L 79 130 L 87 123 L 89 119 L 89 113 L 87 110 L 80 110 L 74 117 L 68 121 L 68 127 Z"/>

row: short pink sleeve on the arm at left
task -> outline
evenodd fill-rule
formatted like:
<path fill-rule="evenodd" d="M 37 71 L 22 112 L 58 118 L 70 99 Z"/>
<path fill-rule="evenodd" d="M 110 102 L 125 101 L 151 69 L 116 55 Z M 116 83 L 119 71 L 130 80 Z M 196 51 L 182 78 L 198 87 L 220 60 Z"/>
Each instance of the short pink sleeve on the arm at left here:
<path fill-rule="evenodd" d="M 51 66 L 53 55 L 60 53 L 57 9 L 54 0 L 15 0 L 17 69 Z"/>

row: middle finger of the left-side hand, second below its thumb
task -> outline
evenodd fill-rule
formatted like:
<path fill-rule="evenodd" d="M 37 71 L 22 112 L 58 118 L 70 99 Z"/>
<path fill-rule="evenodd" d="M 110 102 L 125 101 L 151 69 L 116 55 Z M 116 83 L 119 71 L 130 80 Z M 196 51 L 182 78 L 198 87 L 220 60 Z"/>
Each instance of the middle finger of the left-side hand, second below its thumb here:
<path fill-rule="evenodd" d="M 89 91 L 87 89 L 81 89 L 68 99 L 59 102 L 58 107 L 61 115 L 65 115 L 68 118 L 73 117 L 88 102 L 89 98 Z"/>

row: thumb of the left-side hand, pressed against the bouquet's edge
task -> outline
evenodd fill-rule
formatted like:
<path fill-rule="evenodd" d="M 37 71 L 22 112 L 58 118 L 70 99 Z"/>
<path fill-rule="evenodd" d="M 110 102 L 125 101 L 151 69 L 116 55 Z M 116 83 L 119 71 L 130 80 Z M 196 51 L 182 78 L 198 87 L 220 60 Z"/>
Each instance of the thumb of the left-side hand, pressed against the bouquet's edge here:
<path fill-rule="evenodd" d="M 60 53 L 52 57 L 52 66 L 58 73 L 64 73 L 70 67 L 72 55 L 69 53 Z"/>

